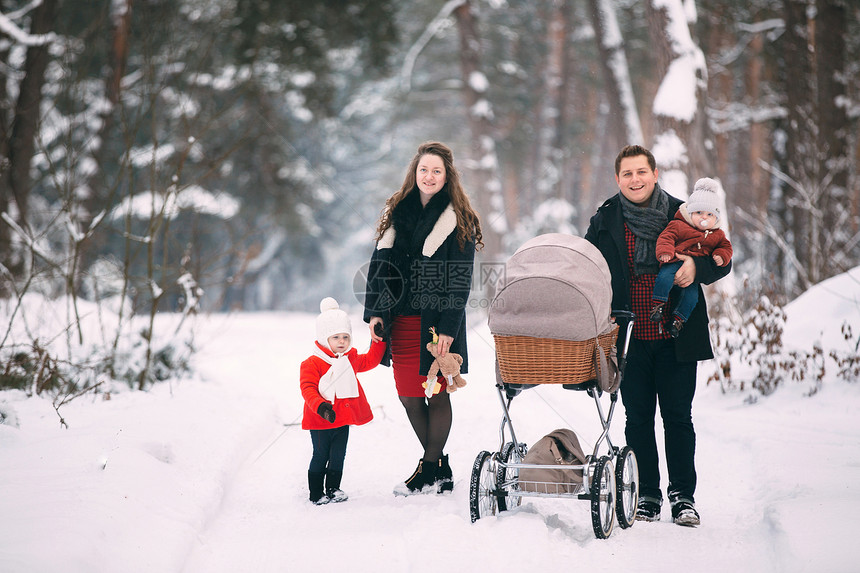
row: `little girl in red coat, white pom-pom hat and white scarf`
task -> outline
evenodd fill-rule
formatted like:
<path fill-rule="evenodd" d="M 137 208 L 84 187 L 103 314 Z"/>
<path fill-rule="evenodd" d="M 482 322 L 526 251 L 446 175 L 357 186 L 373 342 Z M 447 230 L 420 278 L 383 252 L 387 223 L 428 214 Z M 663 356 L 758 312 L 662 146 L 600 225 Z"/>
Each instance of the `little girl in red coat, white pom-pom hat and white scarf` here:
<path fill-rule="evenodd" d="M 372 342 L 367 354 L 352 348 L 349 316 L 331 297 L 320 302 L 314 354 L 302 362 L 299 381 L 305 399 L 302 429 L 310 430 L 314 453 L 308 467 L 309 499 L 316 505 L 346 501 L 340 489 L 349 426 L 373 419 L 356 372 L 376 367 L 384 342 Z"/>

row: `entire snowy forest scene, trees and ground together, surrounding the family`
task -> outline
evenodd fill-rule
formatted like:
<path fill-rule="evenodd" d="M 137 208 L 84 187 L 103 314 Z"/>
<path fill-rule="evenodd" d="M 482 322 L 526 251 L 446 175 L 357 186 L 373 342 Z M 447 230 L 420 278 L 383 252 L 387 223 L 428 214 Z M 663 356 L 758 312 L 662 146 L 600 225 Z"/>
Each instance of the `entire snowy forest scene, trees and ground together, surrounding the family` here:
<path fill-rule="evenodd" d="M 857 568 L 857 0 L 0 0 L 0 76 L 3 573 Z M 454 489 L 392 495 L 420 454 L 379 367 L 350 501 L 320 508 L 300 364 L 323 297 L 369 346 L 377 222 L 430 140 L 484 242 Z M 473 522 L 499 269 L 584 235 L 627 144 L 679 199 L 717 180 L 734 247 L 705 289 L 701 526 L 595 539 L 587 503 L 538 498 Z M 608 435 L 538 386 L 524 443 Z"/>

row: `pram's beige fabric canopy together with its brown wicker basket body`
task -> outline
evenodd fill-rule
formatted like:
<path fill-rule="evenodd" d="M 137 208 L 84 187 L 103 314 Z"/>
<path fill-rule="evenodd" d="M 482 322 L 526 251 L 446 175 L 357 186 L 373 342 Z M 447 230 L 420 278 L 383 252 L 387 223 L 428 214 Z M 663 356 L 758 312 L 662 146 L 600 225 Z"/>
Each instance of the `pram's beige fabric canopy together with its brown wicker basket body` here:
<path fill-rule="evenodd" d="M 511 256 L 497 289 L 489 326 L 497 379 L 509 396 L 534 384 L 618 388 L 611 276 L 594 245 L 537 236 Z"/>

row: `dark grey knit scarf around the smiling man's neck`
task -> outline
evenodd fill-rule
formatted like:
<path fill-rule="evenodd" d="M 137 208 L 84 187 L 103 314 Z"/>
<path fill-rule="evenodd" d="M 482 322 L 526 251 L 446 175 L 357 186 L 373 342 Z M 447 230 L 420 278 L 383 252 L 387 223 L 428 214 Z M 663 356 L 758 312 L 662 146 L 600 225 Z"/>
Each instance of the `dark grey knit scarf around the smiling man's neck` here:
<path fill-rule="evenodd" d="M 633 249 L 633 272 L 637 275 L 656 274 L 660 269 L 657 261 L 657 237 L 669 223 L 669 195 L 659 184 L 654 184 L 654 193 L 648 207 L 639 207 L 619 193 L 624 221 L 636 237 Z"/>

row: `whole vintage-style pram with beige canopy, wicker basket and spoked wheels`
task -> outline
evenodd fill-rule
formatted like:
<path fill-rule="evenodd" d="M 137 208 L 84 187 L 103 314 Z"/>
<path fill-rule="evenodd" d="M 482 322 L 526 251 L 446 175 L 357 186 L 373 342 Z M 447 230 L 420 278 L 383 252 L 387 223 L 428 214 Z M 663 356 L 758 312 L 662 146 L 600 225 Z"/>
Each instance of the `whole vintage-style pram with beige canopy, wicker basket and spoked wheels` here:
<path fill-rule="evenodd" d="M 639 500 L 636 455 L 629 446 L 612 444 L 609 427 L 634 316 L 612 312 L 611 301 L 606 261 L 580 237 L 540 235 L 505 264 L 489 311 L 503 417 L 498 451 L 482 451 L 472 467 L 473 523 L 519 506 L 524 497 L 559 497 L 590 501 L 598 539 L 609 537 L 616 517 L 622 528 L 633 525 Z M 626 324 L 620 356 L 616 356 L 616 318 Z M 510 406 L 523 390 L 538 384 L 560 384 L 584 391 L 594 400 L 603 431 L 591 454 L 579 449 L 570 452 L 572 456 L 559 455 L 552 465 L 530 463 L 526 458 L 528 447 L 517 441 Z M 600 401 L 603 392 L 610 396 L 606 415 Z M 575 443 L 570 449 L 577 448 Z M 533 481 L 535 474 L 566 477 Z"/>

